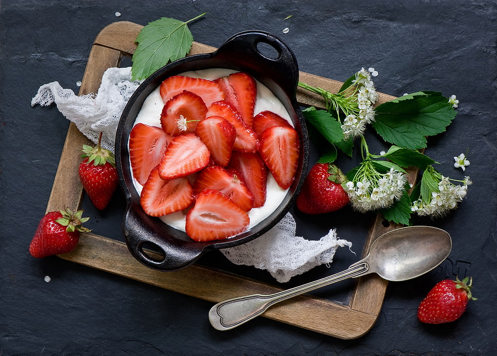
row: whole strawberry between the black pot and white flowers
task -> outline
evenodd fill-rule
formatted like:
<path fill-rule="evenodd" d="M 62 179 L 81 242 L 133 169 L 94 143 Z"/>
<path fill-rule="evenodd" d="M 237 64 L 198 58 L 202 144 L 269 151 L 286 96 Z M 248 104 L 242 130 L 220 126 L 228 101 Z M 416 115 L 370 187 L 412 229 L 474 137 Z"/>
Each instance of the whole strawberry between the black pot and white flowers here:
<path fill-rule="evenodd" d="M 307 214 L 322 214 L 339 210 L 349 202 L 342 187 L 346 181 L 334 164 L 316 163 L 307 174 L 297 197 L 297 208 Z"/>

